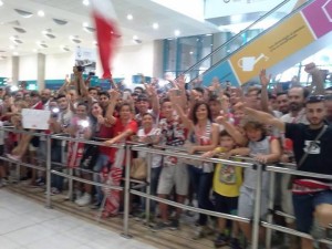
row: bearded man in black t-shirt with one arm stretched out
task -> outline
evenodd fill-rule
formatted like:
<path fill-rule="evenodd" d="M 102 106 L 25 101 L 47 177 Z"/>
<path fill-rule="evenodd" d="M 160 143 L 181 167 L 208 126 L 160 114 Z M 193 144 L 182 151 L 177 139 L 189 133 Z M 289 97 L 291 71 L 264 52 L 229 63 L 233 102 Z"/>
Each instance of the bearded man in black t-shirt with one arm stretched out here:
<path fill-rule="evenodd" d="M 315 95 L 307 100 L 305 116 L 309 125 L 286 123 L 268 113 L 245 107 L 242 103 L 236 107 L 262 123 L 278 127 L 286 137 L 292 139 L 300 170 L 332 175 L 332 126 L 324 124 L 326 110 L 323 96 Z M 302 159 L 305 154 L 307 157 Z M 326 238 L 326 228 L 332 224 L 331 184 L 330 179 L 307 176 L 295 176 L 291 181 L 297 229 L 310 232 L 313 239 Z M 301 238 L 301 249 L 313 249 L 313 241 Z"/>

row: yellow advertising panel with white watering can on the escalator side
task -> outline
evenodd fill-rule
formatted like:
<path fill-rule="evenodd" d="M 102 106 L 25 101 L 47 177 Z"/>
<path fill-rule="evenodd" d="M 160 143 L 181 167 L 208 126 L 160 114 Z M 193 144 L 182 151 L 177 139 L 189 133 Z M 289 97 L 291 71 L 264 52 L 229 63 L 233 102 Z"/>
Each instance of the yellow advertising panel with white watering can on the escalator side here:
<path fill-rule="evenodd" d="M 245 84 L 258 76 L 261 69 L 271 68 L 314 40 L 302 15 L 297 13 L 235 53 L 229 61 L 240 84 Z"/>

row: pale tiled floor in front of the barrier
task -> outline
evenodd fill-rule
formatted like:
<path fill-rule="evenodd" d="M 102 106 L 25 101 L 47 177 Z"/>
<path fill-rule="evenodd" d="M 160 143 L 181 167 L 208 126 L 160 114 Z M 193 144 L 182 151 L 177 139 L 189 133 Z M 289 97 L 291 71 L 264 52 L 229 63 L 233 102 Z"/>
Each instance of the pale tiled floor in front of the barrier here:
<path fill-rule="evenodd" d="M 1 249 L 154 249 L 0 189 Z"/>

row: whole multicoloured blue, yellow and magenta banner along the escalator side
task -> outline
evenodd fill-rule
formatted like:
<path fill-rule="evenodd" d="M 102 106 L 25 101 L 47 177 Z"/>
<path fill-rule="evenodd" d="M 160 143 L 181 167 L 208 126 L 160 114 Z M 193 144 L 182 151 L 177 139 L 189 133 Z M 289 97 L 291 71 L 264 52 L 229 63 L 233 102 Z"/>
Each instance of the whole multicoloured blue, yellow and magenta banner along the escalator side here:
<path fill-rule="evenodd" d="M 331 31 L 332 0 L 315 0 L 208 71 L 204 84 L 225 73 L 234 79 L 232 85 L 242 85 L 257 77 L 261 69 L 273 74 L 282 72 L 331 44 Z M 224 71 L 225 64 L 230 71 Z"/>

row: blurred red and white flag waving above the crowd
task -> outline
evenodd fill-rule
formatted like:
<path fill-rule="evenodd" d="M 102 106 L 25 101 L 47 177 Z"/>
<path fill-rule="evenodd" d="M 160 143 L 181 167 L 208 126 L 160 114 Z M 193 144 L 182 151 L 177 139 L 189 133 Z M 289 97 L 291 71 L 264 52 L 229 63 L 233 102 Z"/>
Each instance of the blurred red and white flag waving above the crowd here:
<path fill-rule="evenodd" d="M 103 79 L 110 79 L 112 77 L 111 61 L 120 38 L 116 14 L 111 0 L 92 0 L 92 8 L 103 68 Z"/>

